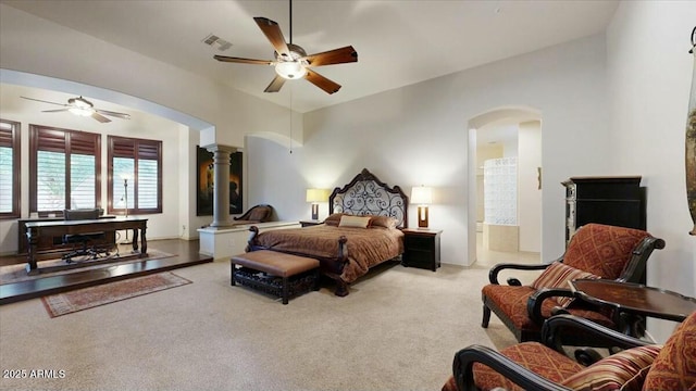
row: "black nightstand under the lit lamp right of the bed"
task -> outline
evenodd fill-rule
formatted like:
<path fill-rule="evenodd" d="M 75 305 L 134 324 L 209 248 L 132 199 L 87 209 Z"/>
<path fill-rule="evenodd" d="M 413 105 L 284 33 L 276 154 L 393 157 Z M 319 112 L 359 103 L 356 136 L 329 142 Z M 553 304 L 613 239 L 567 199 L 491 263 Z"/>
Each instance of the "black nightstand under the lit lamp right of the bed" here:
<path fill-rule="evenodd" d="M 439 267 L 439 235 L 442 230 L 405 228 L 403 266 L 428 268 L 436 272 Z"/>

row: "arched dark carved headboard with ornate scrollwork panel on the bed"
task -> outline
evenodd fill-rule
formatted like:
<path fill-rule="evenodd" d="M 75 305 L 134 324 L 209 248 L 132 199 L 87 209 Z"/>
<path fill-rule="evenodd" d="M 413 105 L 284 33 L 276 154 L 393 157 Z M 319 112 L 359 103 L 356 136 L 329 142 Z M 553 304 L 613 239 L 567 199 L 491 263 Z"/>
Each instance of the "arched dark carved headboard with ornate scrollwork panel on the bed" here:
<path fill-rule="evenodd" d="M 357 216 L 391 216 L 397 227 L 408 227 L 409 198 L 398 186 L 389 187 L 363 168 L 343 188 L 335 188 L 328 197 L 328 213 Z"/>

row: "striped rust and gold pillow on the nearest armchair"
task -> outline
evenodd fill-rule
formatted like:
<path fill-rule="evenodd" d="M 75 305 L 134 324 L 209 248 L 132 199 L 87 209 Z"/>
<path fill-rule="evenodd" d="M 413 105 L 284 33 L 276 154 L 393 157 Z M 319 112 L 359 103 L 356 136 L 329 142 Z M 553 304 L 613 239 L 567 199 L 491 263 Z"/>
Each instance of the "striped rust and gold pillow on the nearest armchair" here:
<path fill-rule="evenodd" d="M 612 354 L 569 377 L 561 384 L 575 391 L 627 390 L 622 387 L 644 368 L 649 367 L 661 348 L 646 345 Z M 633 386 L 635 383 L 632 383 Z"/>

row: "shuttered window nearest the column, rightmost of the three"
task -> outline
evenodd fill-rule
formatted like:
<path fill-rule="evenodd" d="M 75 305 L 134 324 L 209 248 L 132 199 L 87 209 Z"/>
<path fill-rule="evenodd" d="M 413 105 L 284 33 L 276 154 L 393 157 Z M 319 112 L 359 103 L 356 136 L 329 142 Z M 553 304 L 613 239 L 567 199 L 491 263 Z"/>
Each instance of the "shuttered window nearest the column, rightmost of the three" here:
<path fill-rule="evenodd" d="M 162 213 L 162 141 L 109 136 L 109 213 Z"/>

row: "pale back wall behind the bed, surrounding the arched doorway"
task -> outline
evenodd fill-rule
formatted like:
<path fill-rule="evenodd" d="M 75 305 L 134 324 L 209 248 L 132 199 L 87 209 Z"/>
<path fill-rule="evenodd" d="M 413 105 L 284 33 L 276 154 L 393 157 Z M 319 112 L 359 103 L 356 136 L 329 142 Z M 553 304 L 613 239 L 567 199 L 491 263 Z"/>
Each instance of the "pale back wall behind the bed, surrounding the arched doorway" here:
<path fill-rule="evenodd" d="M 307 218 L 307 185 L 343 186 L 363 167 L 407 193 L 432 186 L 430 225 L 444 229 L 443 262 L 469 265 L 475 235 L 468 226 L 475 215 L 468 211 L 468 121 L 496 108 L 532 106 L 545 129 L 543 252 L 556 257 L 564 249 L 560 182 L 601 173 L 609 162 L 611 147 L 596 142 L 609 129 L 605 96 L 605 39 L 595 36 L 319 110 L 304 115 L 304 146 L 291 155 L 247 139 L 249 177 L 256 171 L 273 178 L 250 195 L 288 205 L 286 218 Z M 409 225 L 415 225 L 414 206 Z"/>

